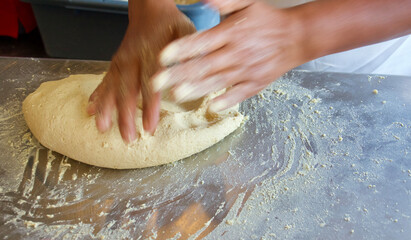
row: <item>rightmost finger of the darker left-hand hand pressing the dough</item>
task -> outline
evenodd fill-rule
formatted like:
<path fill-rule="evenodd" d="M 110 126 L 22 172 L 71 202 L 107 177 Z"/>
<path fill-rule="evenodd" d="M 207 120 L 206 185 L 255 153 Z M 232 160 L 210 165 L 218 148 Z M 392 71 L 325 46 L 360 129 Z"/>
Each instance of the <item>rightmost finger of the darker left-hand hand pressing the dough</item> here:
<path fill-rule="evenodd" d="M 144 93 L 143 91 L 143 127 L 154 135 L 160 118 L 160 93 Z"/>

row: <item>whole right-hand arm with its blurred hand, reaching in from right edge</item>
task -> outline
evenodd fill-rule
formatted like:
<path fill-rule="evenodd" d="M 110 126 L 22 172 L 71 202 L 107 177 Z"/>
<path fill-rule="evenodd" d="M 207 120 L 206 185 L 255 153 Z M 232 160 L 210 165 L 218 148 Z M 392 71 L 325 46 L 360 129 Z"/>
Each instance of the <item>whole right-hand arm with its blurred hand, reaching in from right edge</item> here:
<path fill-rule="evenodd" d="M 289 9 L 208 1 L 232 14 L 209 31 L 168 45 L 160 59 L 173 66 L 157 73 L 153 85 L 157 91 L 171 87 L 179 101 L 229 87 L 211 111 L 257 94 L 312 59 L 411 33 L 411 0 L 320 0 Z"/>

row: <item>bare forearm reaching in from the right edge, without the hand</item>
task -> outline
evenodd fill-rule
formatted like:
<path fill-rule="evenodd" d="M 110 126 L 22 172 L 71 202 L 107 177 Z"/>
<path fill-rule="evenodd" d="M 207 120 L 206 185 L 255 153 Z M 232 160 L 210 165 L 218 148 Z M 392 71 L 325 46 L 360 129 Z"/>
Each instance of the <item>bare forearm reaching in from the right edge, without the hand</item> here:
<path fill-rule="evenodd" d="M 304 60 L 411 33 L 411 0 L 320 0 L 290 8 Z"/>

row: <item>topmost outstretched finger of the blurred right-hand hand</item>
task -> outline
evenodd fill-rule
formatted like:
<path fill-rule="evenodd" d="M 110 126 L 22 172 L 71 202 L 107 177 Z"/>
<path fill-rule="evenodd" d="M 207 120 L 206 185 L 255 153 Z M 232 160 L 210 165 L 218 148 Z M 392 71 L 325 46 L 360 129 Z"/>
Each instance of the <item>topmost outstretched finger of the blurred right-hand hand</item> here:
<path fill-rule="evenodd" d="M 176 40 L 160 53 L 160 64 L 170 66 L 187 59 L 213 52 L 228 42 L 228 34 L 220 25 L 204 32 L 198 32 Z"/>

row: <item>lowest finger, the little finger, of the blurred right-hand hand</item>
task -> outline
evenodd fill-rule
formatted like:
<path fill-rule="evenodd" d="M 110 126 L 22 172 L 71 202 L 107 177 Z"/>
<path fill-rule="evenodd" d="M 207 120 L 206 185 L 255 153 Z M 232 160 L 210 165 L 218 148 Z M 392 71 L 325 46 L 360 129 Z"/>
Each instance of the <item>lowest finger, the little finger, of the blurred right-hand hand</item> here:
<path fill-rule="evenodd" d="M 213 99 L 208 107 L 210 112 L 220 112 L 252 97 L 260 89 L 251 82 L 241 82 L 228 89 L 224 94 Z"/>

